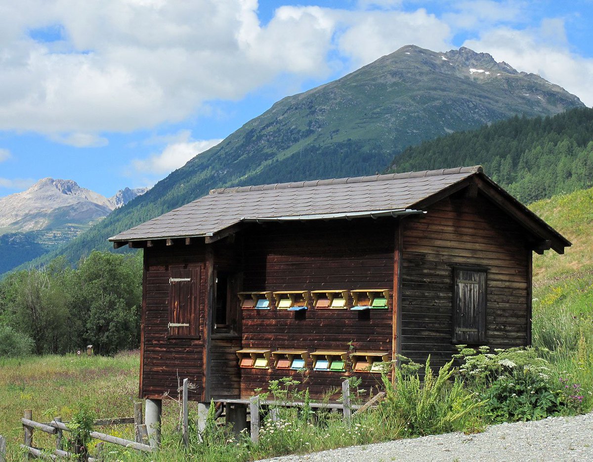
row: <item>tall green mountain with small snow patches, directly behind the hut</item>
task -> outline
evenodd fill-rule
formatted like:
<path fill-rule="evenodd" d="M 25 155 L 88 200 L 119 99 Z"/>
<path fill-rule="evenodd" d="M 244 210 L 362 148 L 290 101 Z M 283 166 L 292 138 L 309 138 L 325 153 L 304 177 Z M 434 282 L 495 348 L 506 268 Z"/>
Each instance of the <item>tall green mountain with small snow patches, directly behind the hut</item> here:
<path fill-rule="evenodd" d="M 76 261 L 90 249 L 108 248 L 109 236 L 212 188 L 374 174 L 404 148 L 440 135 L 583 106 L 563 88 L 487 53 L 404 46 L 285 97 L 44 258 L 63 254 Z"/>

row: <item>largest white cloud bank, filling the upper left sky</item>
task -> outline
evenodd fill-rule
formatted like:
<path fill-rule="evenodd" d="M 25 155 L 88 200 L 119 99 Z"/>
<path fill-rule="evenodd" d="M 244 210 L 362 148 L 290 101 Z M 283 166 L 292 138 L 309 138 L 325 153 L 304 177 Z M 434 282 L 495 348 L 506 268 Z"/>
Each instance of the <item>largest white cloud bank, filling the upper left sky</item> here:
<path fill-rule="evenodd" d="M 0 130 L 79 143 L 63 134 L 179 122 L 284 72 L 329 72 L 333 22 L 317 7 L 281 7 L 262 27 L 253 0 L 24 2 L 0 15 Z M 50 24 L 65 39 L 27 37 Z"/>

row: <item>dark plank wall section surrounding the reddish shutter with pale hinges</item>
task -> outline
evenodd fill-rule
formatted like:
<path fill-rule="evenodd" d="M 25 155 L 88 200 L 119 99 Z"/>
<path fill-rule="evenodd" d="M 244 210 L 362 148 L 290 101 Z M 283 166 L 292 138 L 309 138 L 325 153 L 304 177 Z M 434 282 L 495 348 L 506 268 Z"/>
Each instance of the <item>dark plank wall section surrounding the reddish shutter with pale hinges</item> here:
<path fill-rule="evenodd" d="M 177 379 L 189 378 L 196 388 L 190 398 L 201 400 L 203 393 L 203 328 L 208 297 L 208 268 L 204 245 L 159 246 L 144 249 L 146 281 L 145 325 L 142 357 L 142 397 L 177 397 Z M 168 296 L 171 265 L 201 267 L 201 338 L 168 338 Z"/>

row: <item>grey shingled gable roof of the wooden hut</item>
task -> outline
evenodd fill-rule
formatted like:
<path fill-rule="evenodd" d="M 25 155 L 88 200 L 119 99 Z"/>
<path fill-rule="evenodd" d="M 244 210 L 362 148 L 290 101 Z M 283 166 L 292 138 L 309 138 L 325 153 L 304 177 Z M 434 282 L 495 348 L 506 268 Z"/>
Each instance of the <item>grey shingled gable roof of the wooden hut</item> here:
<path fill-rule="evenodd" d="M 544 221 L 483 174 L 481 166 L 318 181 L 213 189 L 209 195 L 109 238 L 116 243 L 215 236 L 244 221 L 315 220 L 420 213 L 415 207 L 470 176 L 480 175 L 563 245 Z"/>

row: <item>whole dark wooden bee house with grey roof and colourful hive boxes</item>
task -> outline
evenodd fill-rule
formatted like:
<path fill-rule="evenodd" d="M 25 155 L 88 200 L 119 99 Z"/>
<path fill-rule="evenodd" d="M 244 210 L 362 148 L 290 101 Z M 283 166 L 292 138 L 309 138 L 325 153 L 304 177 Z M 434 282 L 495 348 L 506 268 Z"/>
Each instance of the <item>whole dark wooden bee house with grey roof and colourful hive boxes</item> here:
<path fill-rule="evenodd" d="M 530 344 L 533 251 L 570 245 L 481 167 L 215 190 L 111 241 L 144 249 L 141 397 L 204 403 Z"/>

